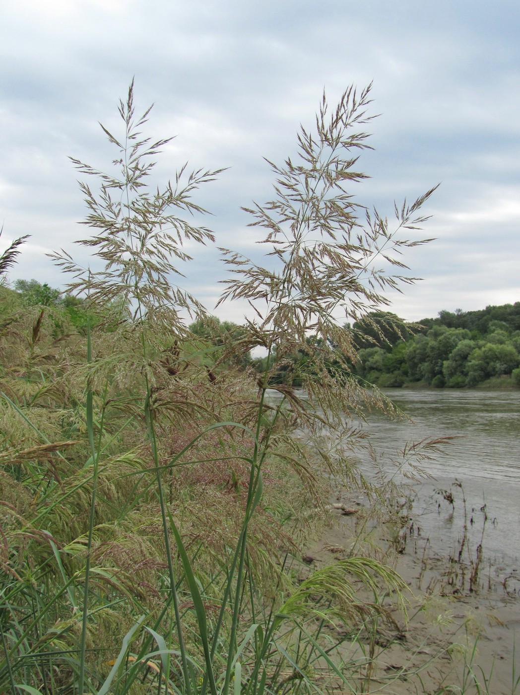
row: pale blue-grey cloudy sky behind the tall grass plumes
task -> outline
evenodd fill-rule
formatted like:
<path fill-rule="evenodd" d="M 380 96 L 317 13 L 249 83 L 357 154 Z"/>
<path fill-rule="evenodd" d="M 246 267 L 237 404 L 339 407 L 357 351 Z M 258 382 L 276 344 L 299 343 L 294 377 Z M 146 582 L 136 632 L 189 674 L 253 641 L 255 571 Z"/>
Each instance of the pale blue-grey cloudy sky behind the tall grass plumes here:
<path fill-rule="evenodd" d="M 520 301 L 518 0 L 3 0 L 0 27 L 0 252 L 31 234 L 11 280 L 63 286 L 45 256 L 61 247 L 83 261 L 68 156 L 97 167 L 115 156 L 98 122 L 120 132 L 133 76 L 138 108 L 155 103 L 147 134 L 176 136 L 158 179 L 186 160 L 230 167 L 196 202 L 215 215 L 217 245 L 255 258 L 240 206 L 271 197 L 262 157 L 294 154 L 324 88 L 335 104 L 373 82 L 381 115 L 357 201 L 391 215 L 394 200 L 441 182 L 418 233 L 436 240 L 405 255 L 423 281 L 392 295 L 392 310 L 418 320 Z M 197 250 L 185 272 L 211 310 L 226 277 L 218 252 Z"/>

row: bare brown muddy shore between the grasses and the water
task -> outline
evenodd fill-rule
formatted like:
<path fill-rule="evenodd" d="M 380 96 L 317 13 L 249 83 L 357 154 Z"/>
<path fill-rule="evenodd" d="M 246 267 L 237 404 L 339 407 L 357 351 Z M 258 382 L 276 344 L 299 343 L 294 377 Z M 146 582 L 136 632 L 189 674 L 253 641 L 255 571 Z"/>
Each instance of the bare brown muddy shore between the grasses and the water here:
<path fill-rule="evenodd" d="M 349 500 L 344 505 L 352 506 Z M 362 512 L 344 516 L 333 509 L 330 516 L 324 537 L 308 547 L 303 575 L 351 554 Z M 372 553 L 393 566 L 408 585 L 408 619 L 391 608 L 394 629 L 383 628 L 372 640 L 365 635 L 363 646 L 346 639 L 341 654 L 345 661 L 366 663 L 370 644 L 374 650 L 377 666 L 369 679 L 367 667 L 360 669 L 358 692 L 520 694 L 520 680 L 516 689 L 512 682 L 520 677 L 520 596 L 514 582 L 504 587 L 489 576 L 480 582 L 483 588 L 470 593 L 453 581 L 448 558 L 433 555 L 426 540 L 410 538 L 401 553 L 395 553 L 388 535 L 384 525 L 371 533 Z M 458 567 L 456 573 L 463 569 Z M 341 627 L 337 631 L 341 634 Z"/>

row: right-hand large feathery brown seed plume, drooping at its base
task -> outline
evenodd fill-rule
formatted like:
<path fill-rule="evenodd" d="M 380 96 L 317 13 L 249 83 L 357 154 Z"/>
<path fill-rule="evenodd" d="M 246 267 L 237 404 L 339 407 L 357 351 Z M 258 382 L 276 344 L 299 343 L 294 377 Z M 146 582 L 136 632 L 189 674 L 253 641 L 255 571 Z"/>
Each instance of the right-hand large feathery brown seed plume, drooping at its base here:
<path fill-rule="evenodd" d="M 416 279 L 403 275 L 408 266 L 402 252 L 429 239 L 407 240 L 403 231 L 418 229 L 428 219 L 419 208 L 436 188 L 411 205 L 395 205 L 393 227 L 356 201 L 355 183 L 366 178 L 357 165 L 360 152 L 369 147 L 369 136 L 360 130 L 373 118 L 367 115 L 369 92 L 370 86 L 359 95 L 350 87 L 331 112 L 324 95 L 314 129 L 301 126 L 296 158 L 283 165 L 269 162 L 276 177 L 274 198 L 244 208 L 253 217 L 251 226 L 267 230 L 260 243 L 267 246 L 269 265 L 222 250 L 235 277 L 224 281 L 220 302 L 240 298 L 251 304 L 253 318 L 246 323 L 251 342 L 271 357 L 261 385 L 285 366 L 287 382 L 274 388 L 297 408 L 290 390 L 297 377 L 336 426 L 360 402 L 392 409 L 382 395 L 360 388 L 351 377 L 355 335 L 345 322 L 365 321 L 383 339 L 369 313 L 389 304 L 387 290 L 400 291 Z M 293 359 L 298 352 L 305 360 Z M 310 425 L 308 410 L 299 412 Z"/>

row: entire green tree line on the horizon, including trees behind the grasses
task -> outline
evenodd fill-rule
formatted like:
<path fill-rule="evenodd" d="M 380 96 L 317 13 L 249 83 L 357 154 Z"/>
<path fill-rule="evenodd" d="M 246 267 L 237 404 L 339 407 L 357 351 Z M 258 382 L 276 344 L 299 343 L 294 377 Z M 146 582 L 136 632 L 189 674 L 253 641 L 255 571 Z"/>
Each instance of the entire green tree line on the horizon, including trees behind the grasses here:
<path fill-rule="evenodd" d="M 53 309 L 56 332 L 65 329 L 64 319 L 83 332 L 87 323 L 85 301 L 37 280 L 17 280 L 15 291 L 25 306 Z M 489 379 L 520 386 L 520 302 L 487 306 L 477 311 L 440 311 L 436 318 L 423 318 L 417 324 L 405 323 L 387 312 L 373 312 L 363 322 L 349 326 L 358 347 L 358 359 L 351 372 L 360 382 L 380 388 L 423 384 L 435 388 L 461 389 L 478 386 Z M 251 357 L 240 350 L 244 327 L 216 317 L 190 325 L 192 335 L 224 348 L 237 345 L 235 366 L 265 373 L 271 357 Z M 301 386 L 312 370 L 314 354 L 322 338 L 309 336 L 308 349 L 301 347 L 279 364 L 271 383 Z M 229 351 L 226 351 L 229 355 Z M 218 361 L 218 354 L 215 354 Z M 226 363 L 229 357 L 226 358 Z M 335 365 L 330 364 L 330 369 Z"/>

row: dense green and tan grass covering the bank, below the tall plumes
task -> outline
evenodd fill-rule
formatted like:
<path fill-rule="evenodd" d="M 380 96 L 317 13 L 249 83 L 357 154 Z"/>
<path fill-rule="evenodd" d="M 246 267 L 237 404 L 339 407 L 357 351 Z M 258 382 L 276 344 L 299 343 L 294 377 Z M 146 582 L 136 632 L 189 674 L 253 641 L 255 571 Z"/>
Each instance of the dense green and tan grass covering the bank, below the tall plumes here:
<path fill-rule="evenodd" d="M 3 335 L 3 691 L 305 691 L 328 661 L 337 680 L 324 627 L 359 630 L 402 588 L 370 557 L 294 573 L 349 462 L 318 460 L 246 375 L 210 378 L 210 345 L 144 359 L 110 314 L 86 339 L 55 318 Z"/>

